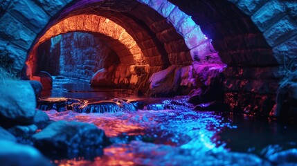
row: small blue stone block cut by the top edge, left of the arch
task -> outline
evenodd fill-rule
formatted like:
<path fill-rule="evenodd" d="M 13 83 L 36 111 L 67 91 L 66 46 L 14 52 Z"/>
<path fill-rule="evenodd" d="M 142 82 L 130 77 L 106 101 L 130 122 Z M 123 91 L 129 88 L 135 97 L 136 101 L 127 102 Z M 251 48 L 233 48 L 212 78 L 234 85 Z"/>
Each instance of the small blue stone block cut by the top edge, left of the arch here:
<path fill-rule="evenodd" d="M 62 0 L 36 0 L 37 4 L 42 6 L 42 8 L 51 16 L 55 15 L 59 10 L 61 10 L 66 3 Z"/>

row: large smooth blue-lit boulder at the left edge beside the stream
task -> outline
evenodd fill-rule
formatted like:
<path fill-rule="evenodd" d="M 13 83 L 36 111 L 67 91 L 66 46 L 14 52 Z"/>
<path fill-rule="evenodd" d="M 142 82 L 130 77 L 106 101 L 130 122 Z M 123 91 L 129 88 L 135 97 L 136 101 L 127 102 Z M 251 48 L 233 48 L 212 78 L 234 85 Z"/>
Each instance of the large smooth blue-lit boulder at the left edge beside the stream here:
<path fill-rule="evenodd" d="M 29 82 L 3 80 L 0 83 L 0 124 L 32 124 L 36 113 L 35 93 Z"/>

